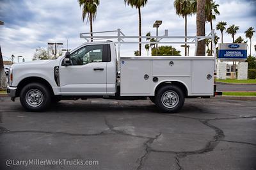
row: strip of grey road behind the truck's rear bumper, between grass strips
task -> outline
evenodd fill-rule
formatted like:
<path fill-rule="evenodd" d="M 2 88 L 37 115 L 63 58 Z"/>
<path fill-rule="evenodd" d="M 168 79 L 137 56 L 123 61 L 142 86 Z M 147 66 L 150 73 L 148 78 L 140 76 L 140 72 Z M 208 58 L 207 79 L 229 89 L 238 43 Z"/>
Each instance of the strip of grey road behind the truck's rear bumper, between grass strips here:
<path fill-rule="evenodd" d="M 223 84 L 216 82 L 218 91 L 256 91 L 256 84 Z"/>

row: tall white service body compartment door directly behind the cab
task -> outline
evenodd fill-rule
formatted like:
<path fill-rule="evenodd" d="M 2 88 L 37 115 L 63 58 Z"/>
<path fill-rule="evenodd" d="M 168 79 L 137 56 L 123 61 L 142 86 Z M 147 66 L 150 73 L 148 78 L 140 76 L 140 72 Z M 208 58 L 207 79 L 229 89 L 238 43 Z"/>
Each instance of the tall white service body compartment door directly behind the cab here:
<path fill-rule="evenodd" d="M 152 61 L 122 59 L 121 68 L 121 95 L 147 96 L 150 94 L 150 81 L 152 81 Z"/>

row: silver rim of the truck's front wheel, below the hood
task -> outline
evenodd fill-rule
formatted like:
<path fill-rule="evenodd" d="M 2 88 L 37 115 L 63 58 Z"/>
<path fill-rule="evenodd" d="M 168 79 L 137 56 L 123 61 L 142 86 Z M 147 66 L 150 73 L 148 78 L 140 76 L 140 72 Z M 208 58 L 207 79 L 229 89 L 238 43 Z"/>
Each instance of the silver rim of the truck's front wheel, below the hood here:
<path fill-rule="evenodd" d="M 30 89 L 26 93 L 26 102 L 31 107 L 38 107 L 44 101 L 43 93 L 38 89 Z"/>

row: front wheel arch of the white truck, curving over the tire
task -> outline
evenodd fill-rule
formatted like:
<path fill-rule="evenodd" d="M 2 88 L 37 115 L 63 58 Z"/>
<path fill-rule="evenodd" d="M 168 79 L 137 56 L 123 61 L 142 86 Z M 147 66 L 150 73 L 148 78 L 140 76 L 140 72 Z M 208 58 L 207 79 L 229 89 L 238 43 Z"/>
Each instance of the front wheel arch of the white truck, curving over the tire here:
<path fill-rule="evenodd" d="M 26 86 L 27 84 L 29 84 L 31 82 L 38 82 L 40 84 L 43 84 L 50 90 L 51 94 L 54 95 L 52 86 L 47 80 L 43 79 L 42 77 L 26 77 L 26 78 L 22 79 L 22 81 L 19 82 L 19 84 L 17 86 L 16 97 L 19 97 L 20 91 L 22 90 L 22 88 L 24 88 L 24 86 Z"/>

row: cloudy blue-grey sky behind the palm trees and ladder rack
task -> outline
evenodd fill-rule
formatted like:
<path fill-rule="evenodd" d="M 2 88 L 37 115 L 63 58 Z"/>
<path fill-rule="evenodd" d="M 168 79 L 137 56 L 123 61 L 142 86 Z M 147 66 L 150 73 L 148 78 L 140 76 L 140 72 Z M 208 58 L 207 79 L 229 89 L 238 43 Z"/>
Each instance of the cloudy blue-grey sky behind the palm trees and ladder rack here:
<path fill-rule="evenodd" d="M 159 35 L 168 29 L 169 36 L 184 36 L 184 19 L 175 14 L 174 0 L 148 0 L 141 10 L 142 33 L 145 35 L 156 30 L 152 28 L 155 20 L 163 20 Z M 223 20 L 228 26 L 240 27 L 237 36 L 245 38 L 244 31 L 252 26 L 256 29 L 256 0 L 216 0 L 220 4 L 221 15 L 214 21 Z M 81 19 L 81 9 L 77 0 L 0 0 L 0 44 L 4 59 L 10 56 L 24 56 L 26 61 L 32 59 L 36 47 L 47 47 L 47 42 L 63 42 L 63 48 L 74 49 L 84 42 L 79 33 L 89 32 L 90 25 Z M 109 31 L 122 29 L 125 35 L 138 35 L 138 11 L 125 6 L 123 0 L 100 0 L 97 19 L 93 23 L 93 31 Z M 210 32 L 209 23 L 206 33 Z M 220 36 L 220 32 L 217 32 Z M 196 35 L 196 17 L 188 17 L 188 35 Z M 224 42 L 231 42 L 230 35 L 225 34 Z M 256 44 L 256 35 L 253 45 Z M 180 45 L 174 45 L 184 54 Z M 137 45 L 122 45 L 122 55 L 133 55 Z M 193 55 L 191 47 L 190 55 Z M 143 45 L 143 54 L 145 49 Z M 254 53 L 254 52 L 253 52 Z M 17 58 L 15 59 L 17 61 Z"/>

